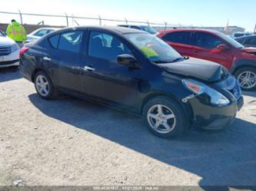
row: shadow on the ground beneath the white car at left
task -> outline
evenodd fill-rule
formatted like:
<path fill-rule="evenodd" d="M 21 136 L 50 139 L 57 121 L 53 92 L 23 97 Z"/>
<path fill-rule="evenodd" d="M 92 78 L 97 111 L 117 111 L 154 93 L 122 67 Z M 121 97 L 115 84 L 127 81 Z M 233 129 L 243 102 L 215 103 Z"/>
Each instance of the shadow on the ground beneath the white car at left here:
<path fill-rule="evenodd" d="M 0 83 L 22 78 L 18 67 L 0 68 Z"/>

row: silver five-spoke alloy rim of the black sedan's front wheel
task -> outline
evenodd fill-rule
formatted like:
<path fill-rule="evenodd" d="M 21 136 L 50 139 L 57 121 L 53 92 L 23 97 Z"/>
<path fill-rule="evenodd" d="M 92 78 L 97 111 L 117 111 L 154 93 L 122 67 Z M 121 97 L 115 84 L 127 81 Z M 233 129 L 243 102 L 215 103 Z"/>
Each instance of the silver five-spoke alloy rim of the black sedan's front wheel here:
<path fill-rule="evenodd" d="M 175 114 L 165 105 L 153 105 L 148 110 L 147 117 L 150 127 L 158 133 L 170 133 L 175 129 Z"/>

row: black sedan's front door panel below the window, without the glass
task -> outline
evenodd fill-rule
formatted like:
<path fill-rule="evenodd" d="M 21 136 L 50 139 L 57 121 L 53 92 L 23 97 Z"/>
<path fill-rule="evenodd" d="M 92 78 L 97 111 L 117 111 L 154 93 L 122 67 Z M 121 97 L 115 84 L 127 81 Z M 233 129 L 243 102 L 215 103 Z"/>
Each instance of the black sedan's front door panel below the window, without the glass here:
<path fill-rule="evenodd" d="M 101 58 L 84 58 L 83 66 L 95 71 L 82 71 L 83 92 L 92 97 L 132 105 L 138 97 L 138 70 L 129 69 Z"/>

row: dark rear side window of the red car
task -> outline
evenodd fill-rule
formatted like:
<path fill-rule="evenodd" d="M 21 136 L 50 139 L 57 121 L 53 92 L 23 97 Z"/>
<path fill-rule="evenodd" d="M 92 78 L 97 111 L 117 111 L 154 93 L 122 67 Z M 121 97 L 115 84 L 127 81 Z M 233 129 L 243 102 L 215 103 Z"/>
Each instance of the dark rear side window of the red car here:
<path fill-rule="evenodd" d="M 171 41 L 179 44 L 191 44 L 191 32 L 190 31 L 179 31 L 171 32 L 164 36 L 165 41 Z"/>

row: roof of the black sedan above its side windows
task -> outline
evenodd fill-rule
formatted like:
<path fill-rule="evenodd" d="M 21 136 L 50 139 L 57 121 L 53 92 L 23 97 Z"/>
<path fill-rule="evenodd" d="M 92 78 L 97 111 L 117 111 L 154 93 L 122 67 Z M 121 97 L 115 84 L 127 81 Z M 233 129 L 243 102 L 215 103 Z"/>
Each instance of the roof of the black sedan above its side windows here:
<path fill-rule="evenodd" d="M 145 34 L 148 34 L 145 31 L 138 31 L 137 29 L 118 27 L 118 26 L 79 26 L 79 27 L 75 27 L 74 29 L 105 30 L 105 31 L 111 31 L 111 32 L 114 32 L 114 33 L 118 33 L 119 35 L 130 34 L 130 33 L 145 33 Z"/>

